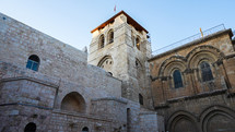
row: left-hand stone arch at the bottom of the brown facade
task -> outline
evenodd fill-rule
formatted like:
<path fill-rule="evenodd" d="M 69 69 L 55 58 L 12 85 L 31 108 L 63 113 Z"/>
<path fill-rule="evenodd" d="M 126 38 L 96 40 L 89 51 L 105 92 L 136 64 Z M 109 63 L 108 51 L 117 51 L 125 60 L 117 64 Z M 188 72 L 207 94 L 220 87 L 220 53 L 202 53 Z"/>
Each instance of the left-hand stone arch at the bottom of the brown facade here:
<path fill-rule="evenodd" d="M 197 118 L 188 111 L 176 111 L 167 120 L 167 130 L 169 132 L 198 132 Z"/>

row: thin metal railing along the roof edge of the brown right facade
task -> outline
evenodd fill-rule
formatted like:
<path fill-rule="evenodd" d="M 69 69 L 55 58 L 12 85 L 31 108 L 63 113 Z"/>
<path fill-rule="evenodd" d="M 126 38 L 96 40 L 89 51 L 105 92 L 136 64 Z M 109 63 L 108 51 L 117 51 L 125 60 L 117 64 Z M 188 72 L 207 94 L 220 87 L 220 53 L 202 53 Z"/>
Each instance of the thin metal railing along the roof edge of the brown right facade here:
<path fill-rule="evenodd" d="M 203 34 L 203 37 L 205 37 L 208 35 L 211 35 L 213 33 L 216 33 L 216 32 L 220 32 L 220 31 L 223 31 L 223 29 L 225 29 L 224 24 L 220 24 L 218 26 L 214 26 L 214 27 L 211 27 L 211 28 L 209 28 L 207 31 L 203 31 L 202 34 Z M 153 56 L 161 55 L 163 52 L 166 52 L 166 51 L 168 51 L 171 49 L 177 48 L 179 46 L 183 46 L 185 44 L 188 44 L 188 43 L 193 41 L 193 40 L 199 39 L 199 38 L 201 38 L 201 33 L 198 33 L 196 35 L 192 35 L 192 36 L 189 36 L 189 37 L 187 37 L 185 39 L 176 41 L 174 44 L 171 44 L 171 45 L 167 45 L 167 46 L 162 47 L 160 49 L 156 49 L 156 50 L 152 51 L 152 55 Z"/>

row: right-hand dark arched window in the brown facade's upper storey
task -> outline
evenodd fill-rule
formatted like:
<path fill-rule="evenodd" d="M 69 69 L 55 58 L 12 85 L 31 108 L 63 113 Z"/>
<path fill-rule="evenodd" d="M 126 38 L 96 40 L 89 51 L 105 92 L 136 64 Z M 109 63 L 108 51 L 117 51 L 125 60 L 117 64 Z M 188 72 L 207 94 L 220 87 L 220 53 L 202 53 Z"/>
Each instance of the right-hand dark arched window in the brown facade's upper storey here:
<path fill-rule="evenodd" d="M 203 61 L 200 63 L 200 69 L 201 69 L 201 77 L 202 82 L 211 81 L 213 80 L 213 75 L 211 72 L 211 67 L 208 62 Z"/>

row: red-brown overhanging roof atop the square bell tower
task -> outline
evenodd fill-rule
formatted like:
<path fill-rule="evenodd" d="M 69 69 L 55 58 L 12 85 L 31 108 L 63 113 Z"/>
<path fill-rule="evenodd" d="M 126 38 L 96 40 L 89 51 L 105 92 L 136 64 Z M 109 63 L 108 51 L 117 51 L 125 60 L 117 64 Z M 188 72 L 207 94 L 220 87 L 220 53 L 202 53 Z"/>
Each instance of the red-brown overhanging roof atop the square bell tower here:
<path fill-rule="evenodd" d="M 107 20 L 106 22 L 104 22 L 103 24 L 101 24 L 99 26 L 97 26 L 96 28 L 94 28 L 93 31 L 91 31 L 91 33 L 94 33 L 96 29 L 102 29 L 106 25 L 108 25 L 109 23 L 113 23 L 115 21 L 115 19 L 118 15 L 120 15 L 120 14 L 125 14 L 127 16 L 127 23 L 130 24 L 130 25 L 132 25 L 137 31 L 144 31 L 144 32 L 149 33 L 144 27 L 142 27 L 137 21 L 134 21 L 125 11 L 120 11 L 119 13 L 117 13 L 116 15 L 114 15 L 111 19 Z"/>

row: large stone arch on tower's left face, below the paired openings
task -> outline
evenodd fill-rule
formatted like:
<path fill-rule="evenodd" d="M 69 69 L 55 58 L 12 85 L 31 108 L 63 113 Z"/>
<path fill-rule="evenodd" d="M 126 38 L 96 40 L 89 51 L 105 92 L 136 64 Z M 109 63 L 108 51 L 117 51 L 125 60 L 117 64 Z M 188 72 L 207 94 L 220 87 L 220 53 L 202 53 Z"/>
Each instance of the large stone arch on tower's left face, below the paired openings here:
<path fill-rule="evenodd" d="M 97 67 L 104 69 L 106 72 L 113 73 L 113 65 L 114 65 L 114 60 L 111 56 L 105 56 L 101 59 L 98 62 Z"/>

